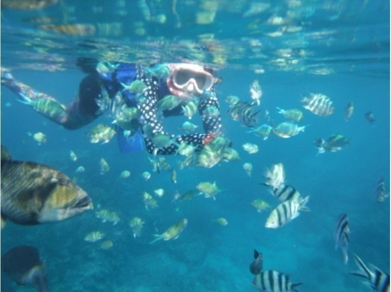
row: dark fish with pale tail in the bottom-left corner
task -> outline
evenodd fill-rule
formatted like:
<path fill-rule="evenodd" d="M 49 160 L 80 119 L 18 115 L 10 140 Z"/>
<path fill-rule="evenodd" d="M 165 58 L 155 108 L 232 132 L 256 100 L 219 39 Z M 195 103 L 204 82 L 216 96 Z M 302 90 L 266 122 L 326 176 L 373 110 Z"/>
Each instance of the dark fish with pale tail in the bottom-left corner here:
<path fill-rule="evenodd" d="M 46 265 L 40 260 L 39 252 L 30 246 L 17 246 L 1 256 L 1 270 L 19 285 L 34 286 L 39 292 L 46 292 Z"/>

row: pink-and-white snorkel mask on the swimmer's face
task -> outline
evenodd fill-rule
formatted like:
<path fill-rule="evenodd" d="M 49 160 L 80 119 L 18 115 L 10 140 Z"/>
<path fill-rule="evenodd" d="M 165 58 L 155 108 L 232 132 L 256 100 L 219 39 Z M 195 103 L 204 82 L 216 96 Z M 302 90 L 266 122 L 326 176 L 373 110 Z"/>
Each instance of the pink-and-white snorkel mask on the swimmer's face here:
<path fill-rule="evenodd" d="M 167 86 L 175 96 L 191 98 L 212 89 L 214 77 L 202 66 L 188 63 L 169 63 L 167 65 L 171 69 Z"/>

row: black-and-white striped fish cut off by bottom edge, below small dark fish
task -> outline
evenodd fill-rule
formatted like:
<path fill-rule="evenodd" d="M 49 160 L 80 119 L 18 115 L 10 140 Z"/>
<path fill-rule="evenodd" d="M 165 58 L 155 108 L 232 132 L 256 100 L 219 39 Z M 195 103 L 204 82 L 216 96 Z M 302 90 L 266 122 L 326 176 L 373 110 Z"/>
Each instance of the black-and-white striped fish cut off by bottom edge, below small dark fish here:
<path fill-rule="evenodd" d="M 254 277 L 253 285 L 259 291 L 264 292 L 289 292 L 296 291 L 296 288 L 303 283 L 291 283 L 289 275 L 278 271 L 267 270 L 262 271 Z"/>

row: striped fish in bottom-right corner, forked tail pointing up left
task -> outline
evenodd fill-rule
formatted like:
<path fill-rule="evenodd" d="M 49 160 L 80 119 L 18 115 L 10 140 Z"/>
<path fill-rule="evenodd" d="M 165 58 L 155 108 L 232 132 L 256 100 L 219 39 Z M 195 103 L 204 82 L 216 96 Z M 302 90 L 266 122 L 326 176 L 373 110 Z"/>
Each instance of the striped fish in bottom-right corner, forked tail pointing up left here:
<path fill-rule="evenodd" d="M 359 270 L 350 272 L 350 274 L 366 278 L 368 281 L 363 281 L 363 283 L 372 291 L 390 292 L 390 274 L 380 271 L 379 268 L 373 265 L 371 266 L 374 271 L 369 270 L 358 255 L 353 255 Z"/>

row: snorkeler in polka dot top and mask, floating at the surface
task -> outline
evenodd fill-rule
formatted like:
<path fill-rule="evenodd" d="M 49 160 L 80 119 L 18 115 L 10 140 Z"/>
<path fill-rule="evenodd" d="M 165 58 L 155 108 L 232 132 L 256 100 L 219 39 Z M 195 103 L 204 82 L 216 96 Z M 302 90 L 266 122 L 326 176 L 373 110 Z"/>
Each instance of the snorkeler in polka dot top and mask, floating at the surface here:
<path fill-rule="evenodd" d="M 1 84 L 18 94 L 23 103 L 31 105 L 45 117 L 67 129 L 78 129 L 94 121 L 103 113 L 101 106 L 104 97 L 108 96 L 113 101 L 118 92 L 121 92 L 126 105 L 137 108 L 138 112 L 136 130 L 131 134 L 116 125 L 122 152 L 147 149 L 154 154 L 175 154 L 183 142 L 195 146 L 198 152 L 215 137 L 222 135 L 219 104 L 213 87 L 216 79 L 211 69 L 191 63 L 168 63 L 151 68 L 133 63 L 95 62 L 91 66 L 90 61 L 82 58 L 78 60 L 78 65 L 88 75 L 80 83 L 78 95 L 68 107 L 57 102 L 55 98 L 17 81 L 4 69 L 1 69 Z M 153 74 L 152 69 L 156 66 L 166 69 L 166 73 L 161 70 L 163 74 Z M 131 86 L 127 85 L 134 81 L 144 83 L 145 88 L 140 94 L 135 94 L 130 90 Z M 174 95 L 183 100 L 183 103 L 198 97 L 197 108 L 205 133 L 166 133 L 158 107 L 159 101 L 167 95 Z M 164 117 L 180 114 L 183 114 L 181 104 L 163 110 Z M 159 134 L 171 137 L 171 142 L 157 145 L 153 136 Z"/>

